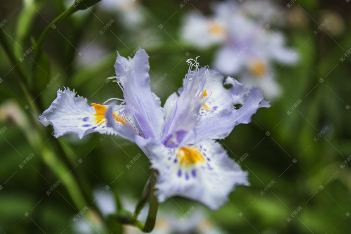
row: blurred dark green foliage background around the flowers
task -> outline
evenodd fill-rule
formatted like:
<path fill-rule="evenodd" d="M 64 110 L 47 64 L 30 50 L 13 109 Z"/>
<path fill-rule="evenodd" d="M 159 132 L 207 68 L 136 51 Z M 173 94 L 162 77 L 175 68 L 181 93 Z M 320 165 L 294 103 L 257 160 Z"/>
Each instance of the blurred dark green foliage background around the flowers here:
<path fill-rule="evenodd" d="M 150 162 L 127 140 L 99 134 L 82 140 L 74 135 L 55 139 L 51 126 L 41 126 L 38 114 L 48 108 L 59 88 L 74 88 L 89 103 L 122 98 L 118 85 L 105 79 L 114 75 L 117 50 L 129 56 L 140 46 L 150 55 L 151 84 L 164 73 L 169 75 L 162 85 L 151 86 L 164 104 L 181 86 L 187 59 L 200 55 L 201 65 L 213 61 L 216 48 L 198 51 L 179 39 L 184 14 L 194 8 L 210 13 L 208 1 L 191 0 L 184 7 L 180 7 L 183 1 L 130 1 L 143 16 L 135 24 L 130 22 L 135 20 L 132 12 L 107 10 L 100 7 L 104 1 L 65 17 L 48 33 L 34 74 L 28 72 L 35 49 L 23 61 L 18 58 L 31 47 L 31 36 L 38 39 L 69 4 L 0 2 L 0 21 L 8 21 L 1 28 L 3 38 L 16 62 L 34 77 L 30 82 L 22 79 L 25 93 L 18 67 L 0 47 L 0 129 L 5 130 L 0 136 L 0 233 L 77 233 L 72 218 L 86 204 L 95 209 L 94 189 L 108 185 L 107 192 L 136 200 L 150 175 Z M 289 2 L 277 2 L 287 19 L 280 30 L 287 45 L 298 49 L 301 61 L 281 69 L 275 66 L 284 97 L 272 101 L 271 108 L 259 109 L 249 125 L 235 127 L 221 141 L 230 157 L 238 160 L 249 155 L 241 166 L 249 171 L 251 182 L 250 187 L 237 187 L 230 203 L 209 214 L 221 233 L 332 234 L 351 229 L 351 163 L 344 163 L 351 154 L 351 60 L 345 56 L 340 60 L 351 47 L 351 3 L 300 0 L 288 8 Z M 326 18 L 329 26 L 315 35 L 313 31 Z M 115 22 L 101 34 L 111 19 Z M 46 87 L 58 73 L 57 81 Z M 28 95 L 35 99 L 32 103 Z M 299 99 L 302 103 L 287 114 Z M 315 141 L 325 126 L 329 129 Z M 33 158 L 22 163 L 31 153 Z M 126 168 L 138 153 L 143 157 Z M 58 180 L 62 183 L 49 191 Z M 264 191 L 272 180 L 276 183 Z M 179 220 L 194 205 L 197 202 L 176 197 L 160 204 L 160 209 L 172 207 L 167 209 L 177 213 Z M 298 207 L 302 210 L 288 222 Z M 122 230 L 112 228 L 107 233 Z"/>

